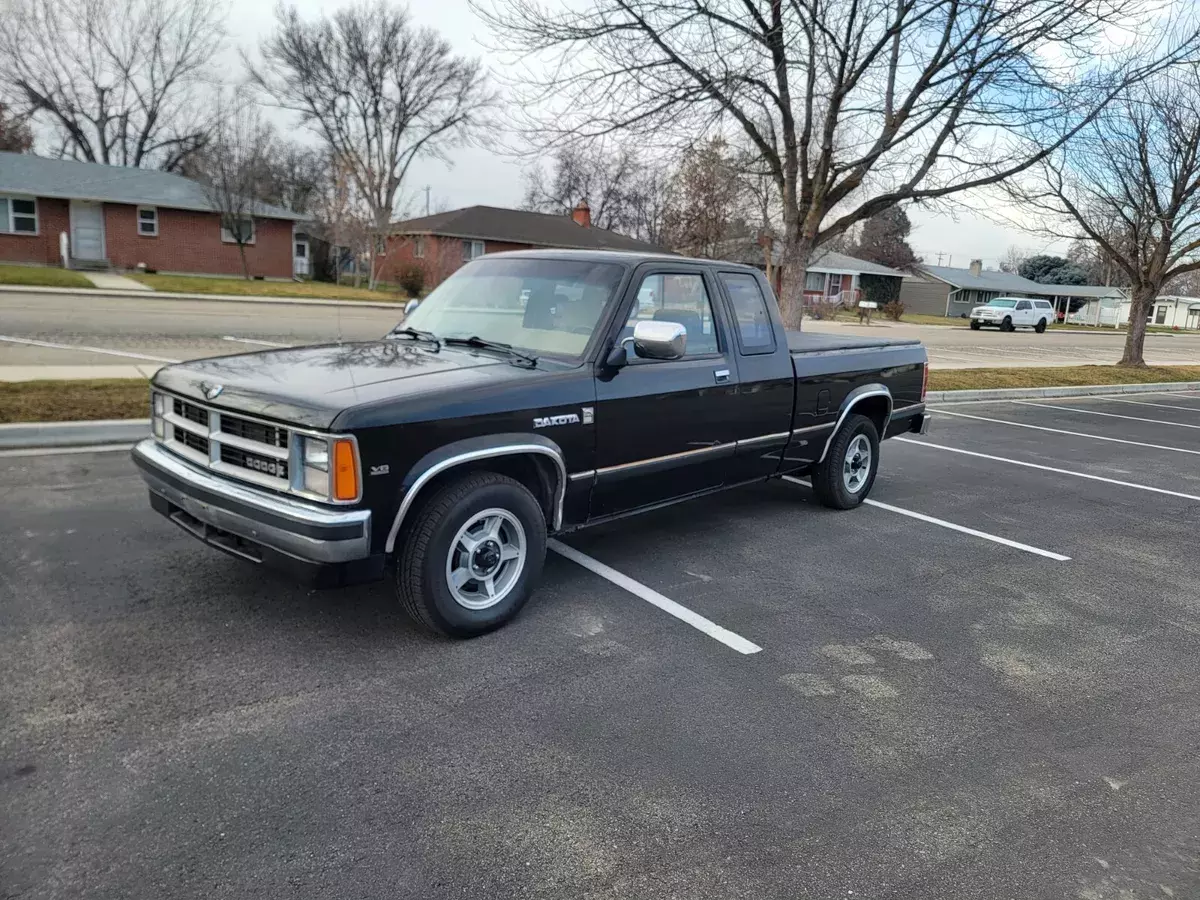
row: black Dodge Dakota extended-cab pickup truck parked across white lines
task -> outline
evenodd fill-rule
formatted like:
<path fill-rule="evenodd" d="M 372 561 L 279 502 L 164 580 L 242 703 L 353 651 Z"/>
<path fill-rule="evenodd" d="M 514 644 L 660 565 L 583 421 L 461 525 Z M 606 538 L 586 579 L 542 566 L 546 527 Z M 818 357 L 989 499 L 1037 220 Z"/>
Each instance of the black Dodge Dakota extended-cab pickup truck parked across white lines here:
<path fill-rule="evenodd" d="M 917 341 L 786 332 L 748 266 L 500 253 L 378 341 L 160 370 L 133 461 L 214 547 L 391 572 L 418 622 L 470 636 L 528 600 L 548 535 L 788 473 L 858 505 L 880 440 L 926 428 L 926 374 Z"/>

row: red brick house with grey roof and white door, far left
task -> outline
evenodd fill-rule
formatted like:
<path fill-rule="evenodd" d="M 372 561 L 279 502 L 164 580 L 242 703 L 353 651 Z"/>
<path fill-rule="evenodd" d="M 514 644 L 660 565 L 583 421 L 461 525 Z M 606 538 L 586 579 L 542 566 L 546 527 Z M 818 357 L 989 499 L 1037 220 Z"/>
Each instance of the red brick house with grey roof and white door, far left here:
<path fill-rule="evenodd" d="M 290 278 L 307 263 L 304 216 L 258 204 L 246 228 L 252 276 Z M 241 275 L 233 235 L 204 187 L 155 169 L 0 152 L 0 262 Z M 298 259 L 299 257 L 299 259 Z M 302 260 L 302 262 L 301 262 Z"/>

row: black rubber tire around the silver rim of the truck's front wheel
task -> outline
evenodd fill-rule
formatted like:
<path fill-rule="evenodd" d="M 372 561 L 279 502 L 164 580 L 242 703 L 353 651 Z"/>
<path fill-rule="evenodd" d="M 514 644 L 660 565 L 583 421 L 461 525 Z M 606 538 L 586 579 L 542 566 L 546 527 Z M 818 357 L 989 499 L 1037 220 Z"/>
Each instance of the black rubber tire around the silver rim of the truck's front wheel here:
<path fill-rule="evenodd" d="M 523 529 L 524 559 L 508 593 L 487 608 L 468 608 L 446 578 L 451 544 L 484 510 L 498 509 Z M 433 492 L 410 514 L 413 528 L 396 559 L 396 595 L 414 622 L 448 637 L 475 637 L 508 623 L 536 589 L 546 562 L 546 517 L 520 481 L 494 472 L 463 475 Z M 461 558 L 461 557 L 460 557 Z"/>

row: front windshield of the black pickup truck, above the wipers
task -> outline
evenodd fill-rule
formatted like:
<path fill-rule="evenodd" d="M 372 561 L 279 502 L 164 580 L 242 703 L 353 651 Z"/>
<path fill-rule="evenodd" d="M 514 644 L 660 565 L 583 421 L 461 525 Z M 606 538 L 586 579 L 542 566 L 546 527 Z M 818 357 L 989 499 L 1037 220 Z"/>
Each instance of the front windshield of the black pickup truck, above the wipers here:
<path fill-rule="evenodd" d="M 570 259 L 480 259 L 434 288 L 404 326 L 578 359 L 622 272 Z"/>

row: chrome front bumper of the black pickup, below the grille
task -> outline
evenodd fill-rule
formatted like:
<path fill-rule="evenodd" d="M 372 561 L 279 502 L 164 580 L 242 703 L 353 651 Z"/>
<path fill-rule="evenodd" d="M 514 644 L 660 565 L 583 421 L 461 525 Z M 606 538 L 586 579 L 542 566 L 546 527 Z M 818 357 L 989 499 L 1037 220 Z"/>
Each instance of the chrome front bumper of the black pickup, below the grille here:
<path fill-rule="evenodd" d="M 150 493 L 164 500 L 154 504 L 160 512 L 234 556 L 263 562 L 253 545 L 316 564 L 371 553 L 370 510 L 331 510 L 238 485 L 185 462 L 154 438 L 133 448 L 133 462 Z"/>

